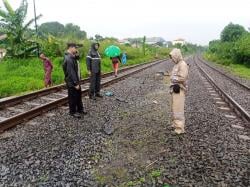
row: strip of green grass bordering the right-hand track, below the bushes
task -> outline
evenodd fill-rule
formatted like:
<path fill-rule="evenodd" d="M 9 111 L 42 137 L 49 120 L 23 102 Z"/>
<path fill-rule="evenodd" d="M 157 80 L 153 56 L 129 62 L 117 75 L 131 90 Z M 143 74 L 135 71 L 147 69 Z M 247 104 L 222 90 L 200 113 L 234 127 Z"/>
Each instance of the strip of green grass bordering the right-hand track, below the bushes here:
<path fill-rule="evenodd" d="M 203 57 L 208 61 L 219 64 L 223 68 L 229 70 L 234 75 L 250 80 L 250 67 L 246 65 L 236 64 L 228 59 L 219 59 L 214 54 L 205 53 Z"/>

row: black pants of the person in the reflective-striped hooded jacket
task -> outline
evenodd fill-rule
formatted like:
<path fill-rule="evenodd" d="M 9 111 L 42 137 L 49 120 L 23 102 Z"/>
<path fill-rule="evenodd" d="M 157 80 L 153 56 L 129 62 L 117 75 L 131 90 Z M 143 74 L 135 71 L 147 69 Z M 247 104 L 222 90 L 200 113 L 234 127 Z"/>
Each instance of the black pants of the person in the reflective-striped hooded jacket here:
<path fill-rule="evenodd" d="M 96 95 L 101 90 L 101 72 L 91 73 L 90 76 L 90 95 Z"/>

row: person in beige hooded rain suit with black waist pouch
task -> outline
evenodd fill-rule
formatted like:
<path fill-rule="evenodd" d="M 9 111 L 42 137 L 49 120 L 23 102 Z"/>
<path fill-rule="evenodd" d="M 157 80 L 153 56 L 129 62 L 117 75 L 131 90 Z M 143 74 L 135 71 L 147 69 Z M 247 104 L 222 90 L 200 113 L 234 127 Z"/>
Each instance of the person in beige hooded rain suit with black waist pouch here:
<path fill-rule="evenodd" d="M 175 128 L 175 133 L 185 133 L 185 92 L 186 81 L 188 77 L 188 65 L 182 58 L 180 49 L 173 49 L 170 52 L 170 58 L 175 63 L 171 73 L 171 103 L 172 103 L 172 126 Z"/>

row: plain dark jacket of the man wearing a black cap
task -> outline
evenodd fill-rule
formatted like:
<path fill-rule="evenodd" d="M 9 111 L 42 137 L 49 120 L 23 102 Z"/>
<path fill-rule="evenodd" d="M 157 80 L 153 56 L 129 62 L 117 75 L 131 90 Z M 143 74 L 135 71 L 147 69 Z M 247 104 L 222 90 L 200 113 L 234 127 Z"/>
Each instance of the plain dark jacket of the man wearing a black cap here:
<path fill-rule="evenodd" d="M 78 76 L 78 64 L 75 56 L 66 53 L 63 62 L 63 71 L 65 75 L 65 82 L 68 87 L 74 87 L 80 84 Z"/>

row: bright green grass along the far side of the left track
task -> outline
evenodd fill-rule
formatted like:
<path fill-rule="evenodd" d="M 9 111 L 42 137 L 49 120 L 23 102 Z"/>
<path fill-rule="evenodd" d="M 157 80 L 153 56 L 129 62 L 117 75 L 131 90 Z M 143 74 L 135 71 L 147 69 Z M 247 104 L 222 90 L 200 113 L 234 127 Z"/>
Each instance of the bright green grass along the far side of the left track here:
<path fill-rule="evenodd" d="M 160 57 L 162 58 L 163 56 Z M 153 55 L 131 58 L 128 59 L 126 66 L 150 62 L 154 59 Z M 54 65 L 52 80 L 54 85 L 64 83 L 62 61 L 63 58 L 60 57 L 52 59 Z M 103 58 L 102 72 L 105 73 L 110 71 L 112 71 L 110 59 Z M 83 78 L 87 77 L 85 58 L 81 60 L 81 74 Z M 38 58 L 6 59 L 0 61 L 0 75 L 0 98 L 21 95 L 44 88 L 43 64 Z"/>

